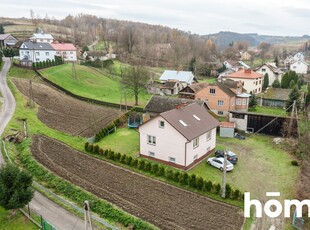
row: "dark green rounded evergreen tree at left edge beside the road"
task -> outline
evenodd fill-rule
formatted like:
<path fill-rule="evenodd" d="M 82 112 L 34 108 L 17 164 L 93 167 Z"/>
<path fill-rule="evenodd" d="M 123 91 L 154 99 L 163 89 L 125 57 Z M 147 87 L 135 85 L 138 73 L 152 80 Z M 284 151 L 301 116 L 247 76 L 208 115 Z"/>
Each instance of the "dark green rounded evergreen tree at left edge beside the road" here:
<path fill-rule="evenodd" d="M 34 195 L 32 176 L 13 164 L 0 169 L 0 206 L 18 209 L 27 205 Z"/>

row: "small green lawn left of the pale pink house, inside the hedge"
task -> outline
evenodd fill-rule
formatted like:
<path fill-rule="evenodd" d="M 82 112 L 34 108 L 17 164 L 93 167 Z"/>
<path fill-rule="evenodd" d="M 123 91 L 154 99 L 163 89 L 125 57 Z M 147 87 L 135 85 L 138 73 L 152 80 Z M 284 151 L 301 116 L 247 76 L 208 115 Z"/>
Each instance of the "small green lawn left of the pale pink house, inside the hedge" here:
<path fill-rule="evenodd" d="M 136 129 L 128 127 L 118 128 L 115 133 L 104 137 L 97 144 L 102 149 L 111 149 L 136 157 L 139 152 L 139 133 Z"/>

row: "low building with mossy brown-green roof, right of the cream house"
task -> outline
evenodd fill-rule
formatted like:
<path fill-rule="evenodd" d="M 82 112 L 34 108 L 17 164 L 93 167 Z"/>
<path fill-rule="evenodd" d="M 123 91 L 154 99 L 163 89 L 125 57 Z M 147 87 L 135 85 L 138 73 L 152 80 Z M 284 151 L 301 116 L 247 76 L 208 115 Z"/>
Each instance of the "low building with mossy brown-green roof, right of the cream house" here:
<path fill-rule="evenodd" d="M 268 88 L 266 92 L 257 95 L 257 103 L 261 106 L 285 108 L 291 89 Z"/>

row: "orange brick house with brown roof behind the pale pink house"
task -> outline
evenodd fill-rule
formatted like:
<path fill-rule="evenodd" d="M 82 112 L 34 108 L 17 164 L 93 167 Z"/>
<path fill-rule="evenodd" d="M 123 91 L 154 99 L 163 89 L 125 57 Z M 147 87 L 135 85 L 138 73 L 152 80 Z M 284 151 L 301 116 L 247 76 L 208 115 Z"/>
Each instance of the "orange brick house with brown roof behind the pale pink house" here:
<path fill-rule="evenodd" d="M 232 80 L 194 84 L 181 90 L 179 95 L 206 102 L 210 110 L 218 116 L 227 116 L 229 111 L 247 111 L 250 97 L 245 93 L 240 81 Z"/>

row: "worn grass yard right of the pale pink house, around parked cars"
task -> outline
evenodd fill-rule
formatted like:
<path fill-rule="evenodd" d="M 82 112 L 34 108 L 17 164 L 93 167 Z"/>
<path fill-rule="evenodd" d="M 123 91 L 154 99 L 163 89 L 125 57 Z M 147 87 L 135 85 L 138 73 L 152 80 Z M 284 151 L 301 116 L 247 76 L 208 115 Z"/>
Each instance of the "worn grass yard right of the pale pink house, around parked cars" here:
<path fill-rule="evenodd" d="M 272 137 L 252 135 L 241 141 L 235 138 L 217 138 L 217 149 L 232 150 L 239 162 L 227 174 L 227 182 L 251 197 L 266 200 L 266 192 L 281 192 L 281 199 L 293 198 L 299 168 L 291 165 L 294 159 L 272 142 Z M 201 162 L 191 173 L 216 183 L 222 183 L 222 172 Z M 283 183 L 285 181 L 285 183 Z"/>

